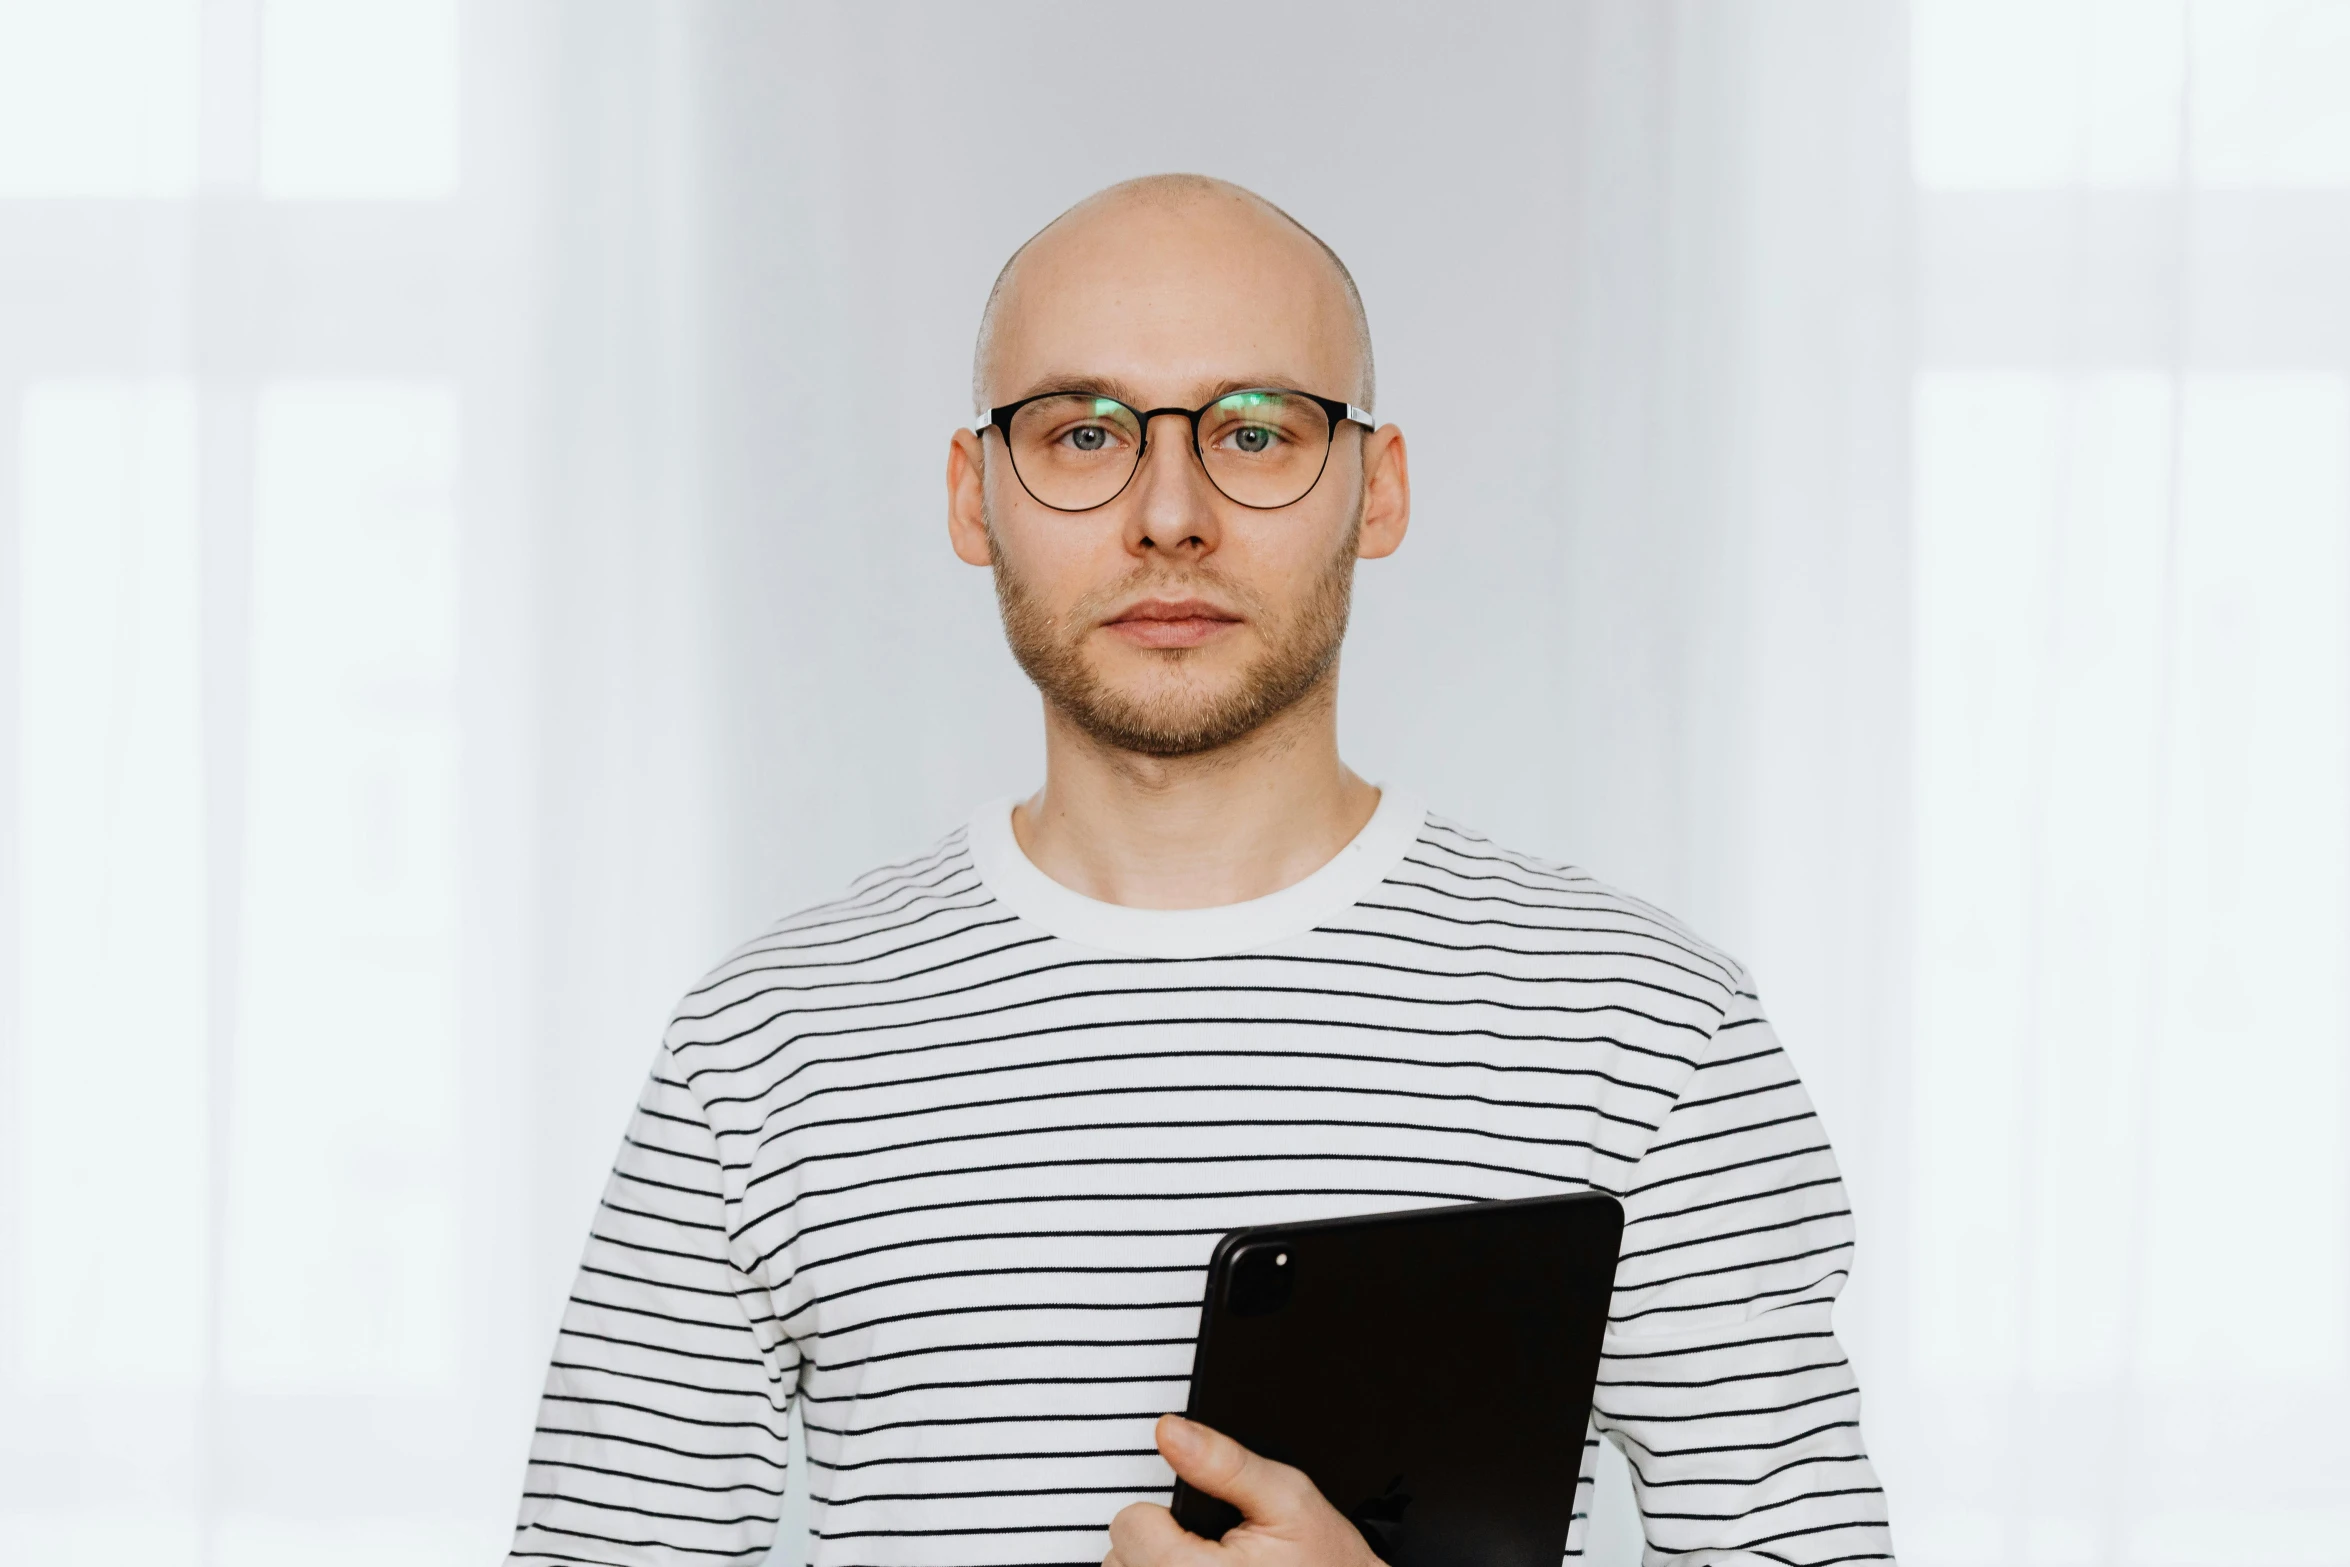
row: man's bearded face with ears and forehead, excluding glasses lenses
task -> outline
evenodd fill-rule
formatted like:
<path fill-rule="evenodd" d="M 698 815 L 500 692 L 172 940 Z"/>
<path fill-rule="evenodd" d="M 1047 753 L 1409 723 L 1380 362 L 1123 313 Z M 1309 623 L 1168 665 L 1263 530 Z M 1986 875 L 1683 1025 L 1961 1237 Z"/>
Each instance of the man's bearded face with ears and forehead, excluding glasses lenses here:
<path fill-rule="evenodd" d="M 1264 385 L 1358 399 L 1361 381 L 1318 247 L 1224 195 L 1062 218 L 1006 282 L 989 348 L 989 406 L 1069 388 L 1133 409 Z M 1100 439 L 1076 435 L 1074 453 Z M 1020 667 L 1076 728 L 1147 756 L 1220 749 L 1330 693 L 1354 561 L 1391 552 L 1410 512 L 1401 435 L 1351 423 L 1314 489 L 1274 510 L 1217 491 L 1177 418 L 1152 423 L 1128 486 L 1086 512 L 1039 503 L 1001 432 L 959 432 L 947 468 L 949 533 L 994 569 Z"/>

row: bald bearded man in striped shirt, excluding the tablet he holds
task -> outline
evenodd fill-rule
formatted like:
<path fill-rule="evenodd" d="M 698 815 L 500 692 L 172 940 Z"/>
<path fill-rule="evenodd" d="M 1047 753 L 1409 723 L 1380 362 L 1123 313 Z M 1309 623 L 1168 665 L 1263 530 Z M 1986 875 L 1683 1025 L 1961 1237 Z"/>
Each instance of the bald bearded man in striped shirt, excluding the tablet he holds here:
<path fill-rule="evenodd" d="M 1852 1219 L 1746 973 L 1340 761 L 1410 477 L 1337 256 L 1234 186 L 1116 186 L 1003 268 L 975 397 L 947 531 L 1043 789 L 679 1006 L 512 1560 L 757 1560 L 797 1398 L 822 1565 L 1361 1567 L 1302 1475 L 1161 1419 L 1215 1238 L 1586 1186 L 1626 1208 L 1593 1424 L 1650 1560 L 1889 1560 Z M 1184 1534 L 1177 1473 L 1246 1522 Z"/>

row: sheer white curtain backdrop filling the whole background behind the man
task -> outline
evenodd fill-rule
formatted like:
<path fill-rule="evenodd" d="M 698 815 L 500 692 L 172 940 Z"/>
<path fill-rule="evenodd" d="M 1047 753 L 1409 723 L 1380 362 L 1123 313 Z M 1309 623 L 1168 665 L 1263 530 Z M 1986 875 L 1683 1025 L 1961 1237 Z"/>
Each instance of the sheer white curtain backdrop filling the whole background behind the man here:
<path fill-rule="evenodd" d="M 674 994 L 1034 778 L 942 442 L 1180 167 L 1412 437 L 1351 754 L 1758 970 L 1906 1560 L 2350 1560 L 2343 12 L 0 0 L 0 1555 L 498 1551 Z"/>

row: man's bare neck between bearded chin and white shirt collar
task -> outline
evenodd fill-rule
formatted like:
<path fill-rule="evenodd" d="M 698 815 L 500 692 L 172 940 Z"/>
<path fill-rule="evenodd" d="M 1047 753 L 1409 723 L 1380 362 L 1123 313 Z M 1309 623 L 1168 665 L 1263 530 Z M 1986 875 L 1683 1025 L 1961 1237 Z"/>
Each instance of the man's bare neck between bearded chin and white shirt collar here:
<path fill-rule="evenodd" d="M 1013 836 L 1046 876 L 1130 909 L 1208 909 L 1304 881 L 1379 792 L 1337 756 L 1337 670 L 1262 728 L 1201 756 L 1102 745 L 1046 705 L 1043 789 Z"/>

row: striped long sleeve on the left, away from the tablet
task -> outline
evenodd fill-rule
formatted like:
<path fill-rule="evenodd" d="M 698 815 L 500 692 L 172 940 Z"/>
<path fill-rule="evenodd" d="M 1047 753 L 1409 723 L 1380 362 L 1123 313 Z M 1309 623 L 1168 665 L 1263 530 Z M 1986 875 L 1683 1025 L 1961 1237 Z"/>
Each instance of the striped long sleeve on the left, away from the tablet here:
<path fill-rule="evenodd" d="M 757 1562 L 797 1374 L 728 1255 L 717 1139 L 663 1050 L 555 1339 L 508 1560 Z"/>

